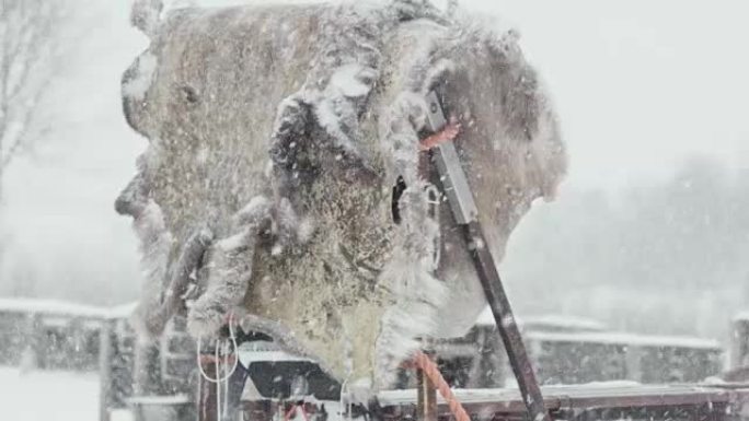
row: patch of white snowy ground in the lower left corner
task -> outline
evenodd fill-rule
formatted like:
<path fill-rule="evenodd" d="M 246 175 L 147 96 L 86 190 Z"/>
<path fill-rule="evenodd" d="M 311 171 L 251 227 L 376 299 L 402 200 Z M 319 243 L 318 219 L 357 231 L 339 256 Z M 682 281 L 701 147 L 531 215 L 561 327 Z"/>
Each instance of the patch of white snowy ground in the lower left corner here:
<path fill-rule="evenodd" d="M 96 421 L 99 378 L 95 374 L 31 372 L 0 367 L 0 401 L 4 420 Z"/>

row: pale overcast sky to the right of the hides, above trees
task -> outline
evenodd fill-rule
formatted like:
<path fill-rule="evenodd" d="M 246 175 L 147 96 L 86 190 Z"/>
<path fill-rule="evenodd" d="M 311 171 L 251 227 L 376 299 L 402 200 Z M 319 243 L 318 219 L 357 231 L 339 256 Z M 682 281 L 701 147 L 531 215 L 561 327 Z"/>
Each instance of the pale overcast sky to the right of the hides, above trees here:
<path fill-rule="evenodd" d="M 749 163 L 746 1 L 482 1 L 517 22 L 569 143 L 569 186 Z"/>

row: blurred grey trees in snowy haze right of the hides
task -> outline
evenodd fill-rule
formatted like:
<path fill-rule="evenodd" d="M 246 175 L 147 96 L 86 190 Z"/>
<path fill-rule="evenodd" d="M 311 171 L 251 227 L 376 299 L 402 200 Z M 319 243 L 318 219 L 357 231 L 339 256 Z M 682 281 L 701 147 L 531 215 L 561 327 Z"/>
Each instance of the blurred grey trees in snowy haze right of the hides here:
<path fill-rule="evenodd" d="M 719 337 L 749 299 L 746 175 L 695 155 L 665 182 L 567 191 L 540 206 L 504 268 L 520 313 Z"/>

